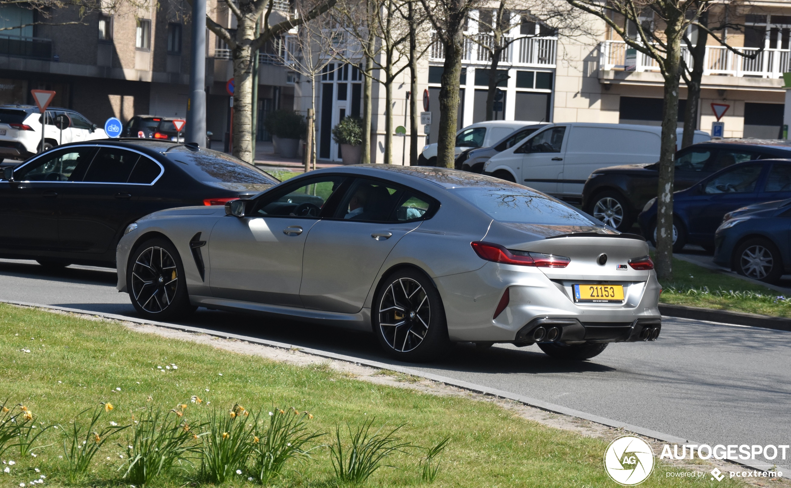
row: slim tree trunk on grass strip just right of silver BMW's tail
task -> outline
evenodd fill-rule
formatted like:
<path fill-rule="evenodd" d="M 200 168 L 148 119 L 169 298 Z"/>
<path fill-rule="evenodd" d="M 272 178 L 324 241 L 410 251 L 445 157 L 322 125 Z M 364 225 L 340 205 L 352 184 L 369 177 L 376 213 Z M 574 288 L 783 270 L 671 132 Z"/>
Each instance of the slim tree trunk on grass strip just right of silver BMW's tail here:
<path fill-rule="evenodd" d="M 662 139 L 659 153 L 659 191 L 657 195 L 657 277 L 673 277 L 673 176 L 676 165 L 676 129 L 679 117 L 679 57 L 681 54 L 680 26 L 683 15 L 668 19 L 665 28 L 667 52 L 664 62 L 664 107 L 662 110 Z M 679 229 L 680 232 L 680 229 Z"/>

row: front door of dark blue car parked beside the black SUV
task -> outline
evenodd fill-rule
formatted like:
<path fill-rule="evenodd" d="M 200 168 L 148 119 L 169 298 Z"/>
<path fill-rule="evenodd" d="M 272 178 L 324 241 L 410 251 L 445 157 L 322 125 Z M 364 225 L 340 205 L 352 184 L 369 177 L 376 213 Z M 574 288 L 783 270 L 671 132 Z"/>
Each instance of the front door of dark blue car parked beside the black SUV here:
<path fill-rule="evenodd" d="M 700 183 L 698 195 L 685 202 L 689 236 L 694 241 L 713 240 L 726 213 L 755 203 L 764 168 L 758 163 L 739 165 Z"/>

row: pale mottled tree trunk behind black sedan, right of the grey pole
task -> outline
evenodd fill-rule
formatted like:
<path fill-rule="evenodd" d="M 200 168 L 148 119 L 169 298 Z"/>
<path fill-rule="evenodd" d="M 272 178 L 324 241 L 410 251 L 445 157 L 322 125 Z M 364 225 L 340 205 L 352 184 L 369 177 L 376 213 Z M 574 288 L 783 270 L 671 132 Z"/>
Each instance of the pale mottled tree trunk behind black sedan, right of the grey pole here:
<path fill-rule="evenodd" d="M 239 26 L 242 29 L 242 25 Z M 252 31 L 252 29 L 249 29 Z M 252 37 L 248 32 L 247 39 Z M 233 50 L 233 155 L 253 162 L 252 144 L 252 59 L 250 45 L 237 43 Z"/>

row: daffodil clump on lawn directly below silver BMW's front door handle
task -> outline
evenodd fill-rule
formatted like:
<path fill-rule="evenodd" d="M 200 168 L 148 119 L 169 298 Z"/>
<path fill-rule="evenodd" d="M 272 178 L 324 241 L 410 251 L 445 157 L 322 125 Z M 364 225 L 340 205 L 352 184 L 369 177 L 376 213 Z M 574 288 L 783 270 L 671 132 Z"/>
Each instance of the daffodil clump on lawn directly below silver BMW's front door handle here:
<path fill-rule="evenodd" d="M 326 433 L 308 433 L 305 423 L 313 418 L 308 412 L 301 414 L 291 407 L 288 410 L 272 408 L 269 412 L 269 426 L 264 429 L 255 417 L 255 437 L 253 437 L 253 469 L 255 478 L 267 484 L 280 475 L 286 461 L 290 459 L 311 459 L 310 452 L 319 447 L 305 449 L 306 444 Z"/>

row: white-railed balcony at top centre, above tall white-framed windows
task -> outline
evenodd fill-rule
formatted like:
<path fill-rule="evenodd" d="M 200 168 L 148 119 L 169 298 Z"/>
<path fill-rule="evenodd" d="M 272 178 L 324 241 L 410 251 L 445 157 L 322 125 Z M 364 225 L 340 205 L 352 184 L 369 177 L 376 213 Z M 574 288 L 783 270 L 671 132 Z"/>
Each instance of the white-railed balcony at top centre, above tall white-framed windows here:
<path fill-rule="evenodd" d="M 505 38 L 509 41 L 513 38 Z M 445 60 L 445 46 L 432 36 L 432 43 L 429 50 L 430 61 Z M 491 62 L 490 51 L 482 46 L 494 44 L 494 36 L 488 34 L 475 34 L 475 41 L 464 39 L 464 53 L 462 60 L 464 64 L 488 65 Z M 557 55 L 558 39 L 556 37 L 523 37 L 509 44 L 509 47 L 502 51 L 500 62 L 510 66 L 540 66 L 554 68 Z"/>

